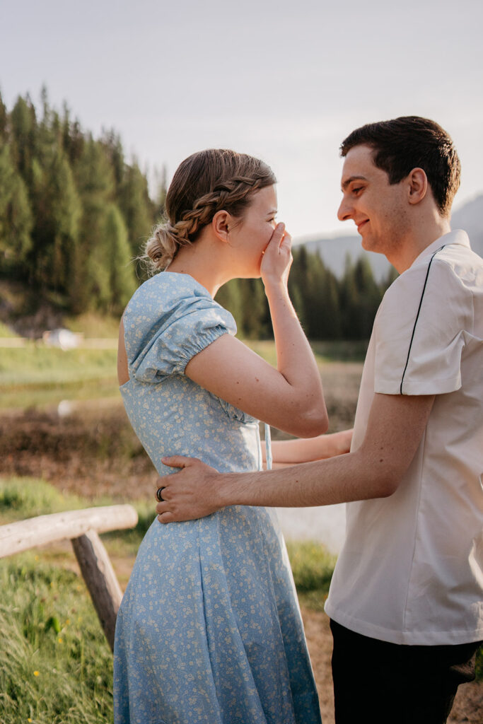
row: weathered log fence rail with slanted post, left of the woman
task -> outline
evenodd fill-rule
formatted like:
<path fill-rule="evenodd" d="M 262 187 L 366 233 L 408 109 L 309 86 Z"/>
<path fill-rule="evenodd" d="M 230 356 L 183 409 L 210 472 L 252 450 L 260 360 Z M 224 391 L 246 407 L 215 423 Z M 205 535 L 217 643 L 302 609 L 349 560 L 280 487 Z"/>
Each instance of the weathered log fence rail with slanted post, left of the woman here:
<path fill-rule="evenodd" d="M 98 533 L 134 528 L 136 523 L 138 513 L 132 505 L 108 505 L 39 515 L 0 526 L 0 558 L 70 539 L 106 639 L 114 649 L 114 629 L 122 591 Z"/>

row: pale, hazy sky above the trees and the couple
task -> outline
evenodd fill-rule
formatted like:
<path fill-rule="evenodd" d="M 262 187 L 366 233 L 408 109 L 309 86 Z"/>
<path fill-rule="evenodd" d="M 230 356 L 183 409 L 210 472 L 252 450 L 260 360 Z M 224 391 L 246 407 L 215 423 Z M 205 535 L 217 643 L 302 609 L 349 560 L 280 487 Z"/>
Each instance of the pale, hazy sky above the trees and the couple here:
<path fill-rule="evenodd" d="M 340 142 L 417 114 L 461 158 L 455 208 L 483 193 L 481 0 L 0 0 L 0 90 L 30 93 L 168 180 L 201 148 L 259 156 L 297 238 L 337 221 Z M 154 187 L 153 187 L 154 188 Z"/>

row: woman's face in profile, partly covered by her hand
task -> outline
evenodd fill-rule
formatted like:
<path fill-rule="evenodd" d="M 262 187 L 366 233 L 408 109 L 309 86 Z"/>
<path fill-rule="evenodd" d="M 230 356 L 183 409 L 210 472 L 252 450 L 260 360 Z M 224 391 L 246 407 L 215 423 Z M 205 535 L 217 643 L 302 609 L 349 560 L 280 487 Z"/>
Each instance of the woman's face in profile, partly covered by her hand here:
<path fill-rule="evenodd" d="M 240 223 L 229 230 L 230 247 L 235 251 L 237 276 L 260 276 L 261 257 L 269 243 L 277 216 L 277 191 L 273 186 L 256 191 Z"/>

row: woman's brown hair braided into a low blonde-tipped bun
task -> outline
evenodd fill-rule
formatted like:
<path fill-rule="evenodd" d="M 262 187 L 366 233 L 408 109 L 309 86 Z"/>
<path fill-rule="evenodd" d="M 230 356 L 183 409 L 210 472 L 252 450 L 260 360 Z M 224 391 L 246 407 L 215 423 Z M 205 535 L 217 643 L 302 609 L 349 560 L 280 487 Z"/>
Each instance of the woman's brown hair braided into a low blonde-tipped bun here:
<path fill-rule="evenodd" d="M 219 148 L 188 156 L 178 167 L 166 197 L 166 219 L 146 242 L 144 258 L 152 271 L 166 269 L 182 246 L 196 241 L 198 232 L 217 211 L 241 218 L 253 193 L 276 182 L 264 161 Z"/>

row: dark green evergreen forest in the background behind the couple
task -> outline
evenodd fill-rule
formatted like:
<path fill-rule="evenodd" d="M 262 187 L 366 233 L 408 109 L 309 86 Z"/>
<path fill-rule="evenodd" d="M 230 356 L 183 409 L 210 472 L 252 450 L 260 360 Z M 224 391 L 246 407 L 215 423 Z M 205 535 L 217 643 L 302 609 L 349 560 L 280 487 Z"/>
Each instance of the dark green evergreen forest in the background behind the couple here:
<path fill-rule="evenodd" d="M 83 130 L 70 109 L 27 95 L 11 111 L 0 95 L 0 278 L 28 285 L 62 311 L 119 315 L 146 278 L 133 259 L 164 212 L 165 172 L 151 198 L 146 172 L 125 158 L 114 130 Z M 341 279 L 317 253 L 294 248 L 290 295 L 308 337 L 366 339 L 382 294 L 363 258 Z M 259 279 L 234 279 L 217 300 L 241 337 L 272 337 Z"/>

